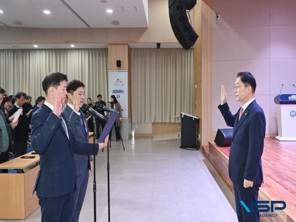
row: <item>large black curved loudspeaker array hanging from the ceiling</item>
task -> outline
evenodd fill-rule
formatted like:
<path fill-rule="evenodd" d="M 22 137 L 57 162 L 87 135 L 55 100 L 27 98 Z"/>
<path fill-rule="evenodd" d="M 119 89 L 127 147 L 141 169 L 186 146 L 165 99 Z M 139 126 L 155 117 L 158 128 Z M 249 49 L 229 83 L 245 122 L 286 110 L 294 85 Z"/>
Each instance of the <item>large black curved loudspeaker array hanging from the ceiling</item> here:
<path fill-rule="evenodd" d="M 173 32 L 186 50 L 191 48 L 198 38 L 186 14 L 186 10 L 192 9 L 195 4 L 196 0 L 169 0 L 169 16 Z"/>

